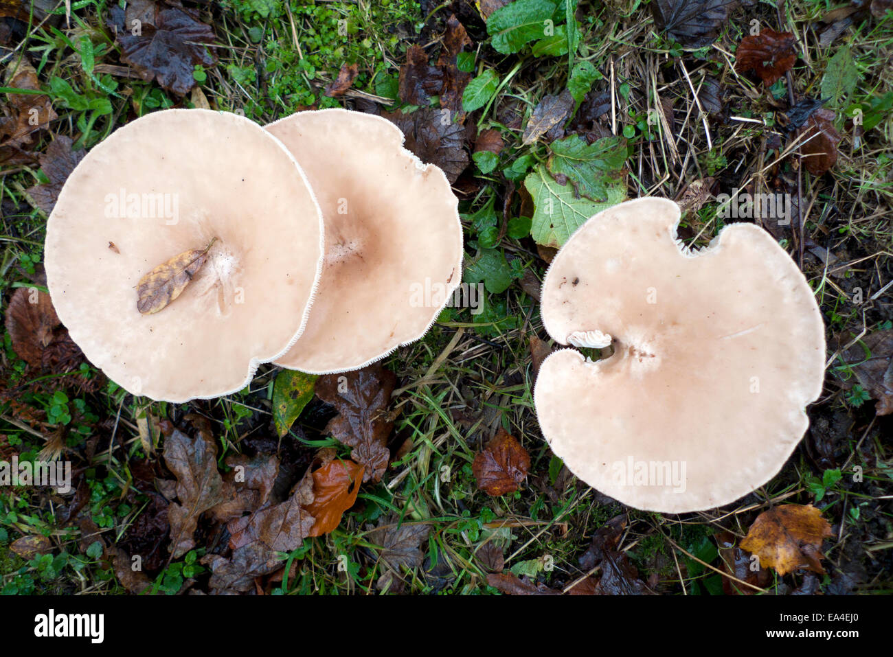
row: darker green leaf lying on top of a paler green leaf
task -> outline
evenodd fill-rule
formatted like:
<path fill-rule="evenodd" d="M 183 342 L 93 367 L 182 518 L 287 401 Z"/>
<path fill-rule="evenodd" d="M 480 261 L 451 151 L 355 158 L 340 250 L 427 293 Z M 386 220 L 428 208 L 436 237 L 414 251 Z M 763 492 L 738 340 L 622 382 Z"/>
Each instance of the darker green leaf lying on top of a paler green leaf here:
<path fill-rule="evenodd" d="M 626 162 L 626 142 L 619 137 L 602 137 L 594 144 L 571 135 L 549 145 L 552 155 L 548 169 L 553 176 L 563 175 L 581 195 L 604 201 L 607 187 L 619 178 Z"/>

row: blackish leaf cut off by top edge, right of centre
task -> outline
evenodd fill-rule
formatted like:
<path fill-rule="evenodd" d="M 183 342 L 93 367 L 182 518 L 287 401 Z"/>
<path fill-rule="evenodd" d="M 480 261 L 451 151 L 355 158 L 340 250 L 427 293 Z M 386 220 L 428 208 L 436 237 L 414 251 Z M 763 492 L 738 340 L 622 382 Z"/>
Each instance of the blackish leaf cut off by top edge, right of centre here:
<path fill-rule="evenodd" d="M 657 27 L 683 46 L 703 48 L 712 44 L 729 20 L 738 0 L 652 0 Z"/>

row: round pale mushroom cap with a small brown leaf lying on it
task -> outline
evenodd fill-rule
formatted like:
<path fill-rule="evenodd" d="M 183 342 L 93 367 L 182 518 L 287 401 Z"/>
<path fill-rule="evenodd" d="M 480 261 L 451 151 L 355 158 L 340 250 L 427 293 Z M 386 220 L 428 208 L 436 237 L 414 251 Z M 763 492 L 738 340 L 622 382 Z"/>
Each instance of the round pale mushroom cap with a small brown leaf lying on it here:
<path fill-rule="evenodd" d="M 122 197 L 132 216 L 119 216 Z M 302 171 L 263 128 L 230 113 L 154 112 L 71 173 L 47 222 L 47 284 L 89 361 L 130 393 L 227 395 L 303 330 L 322 230 Z M 179 298 L 138 312 L 138 281 L 213 237 Z"/>

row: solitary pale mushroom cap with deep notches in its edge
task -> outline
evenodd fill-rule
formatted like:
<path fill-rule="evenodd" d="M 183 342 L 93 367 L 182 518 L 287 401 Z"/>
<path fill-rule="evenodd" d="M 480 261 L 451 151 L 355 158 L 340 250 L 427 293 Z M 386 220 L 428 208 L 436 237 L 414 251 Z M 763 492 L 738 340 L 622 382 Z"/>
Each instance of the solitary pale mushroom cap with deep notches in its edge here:
<path fill-rule="evenodd" d="M 667 513 L 730 503 L 771 479 L 808 426 L 825 356 L 813 292 L 768 233 L 737 223 L 682 253 L 679 219 L 672 201 L 630 201 L 563 246 L 543 283 L 543 323 L 565 345 L 604 332 L 615 351 L 597 362 L 557 351 L 534 391 L 543 436 L 577 477 Z"/>

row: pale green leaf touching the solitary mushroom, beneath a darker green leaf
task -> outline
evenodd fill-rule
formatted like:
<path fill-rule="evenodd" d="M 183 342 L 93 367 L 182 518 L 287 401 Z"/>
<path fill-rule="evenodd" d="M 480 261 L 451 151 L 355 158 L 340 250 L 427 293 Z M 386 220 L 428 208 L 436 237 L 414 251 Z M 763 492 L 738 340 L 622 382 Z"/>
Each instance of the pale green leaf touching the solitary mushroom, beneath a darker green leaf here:
<path fill-rule="evenodd" d="M 533 197 L 535 208 L 530 234 L 537 244 L 555 248 L 563 245 L 593 214 L 626 200 L 626 186 L 619 180 L 608 185 L 607 200 L 597 203 L 577 196 L 570 183 L 559 185 L 542 164 L 524 179 L 524 187 Z"/>

